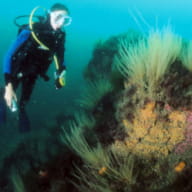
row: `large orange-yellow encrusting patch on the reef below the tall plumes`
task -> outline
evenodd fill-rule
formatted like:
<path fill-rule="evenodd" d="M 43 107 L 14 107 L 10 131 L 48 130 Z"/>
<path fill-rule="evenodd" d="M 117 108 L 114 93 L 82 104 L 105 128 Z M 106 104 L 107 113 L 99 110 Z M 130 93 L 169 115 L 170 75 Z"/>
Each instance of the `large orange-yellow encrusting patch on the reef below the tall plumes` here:
<path fill-rule="evenodd" d="M 171 111 L 168 120 L 160 119 L 155 102 L 148 102 L 134 113 L 134 119 L 122 120 L 128 137 L 124 144 L 128 150 L 147 157 L 166 156 L 184 139 L 186 114 Z M 123 144 L 122 144 L 123 145 Z"/>

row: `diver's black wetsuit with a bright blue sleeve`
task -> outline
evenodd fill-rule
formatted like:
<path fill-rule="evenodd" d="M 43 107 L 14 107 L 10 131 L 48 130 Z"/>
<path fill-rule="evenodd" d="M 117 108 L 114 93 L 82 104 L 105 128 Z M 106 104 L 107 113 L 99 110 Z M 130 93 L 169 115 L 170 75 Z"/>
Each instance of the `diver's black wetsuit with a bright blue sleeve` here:
<path fill-rule="evenodd" d="M 24 28 L 8 51 L 4 62 L 6 84 L 11 82 L 14 90 L 19 83 L 22 84 L 20 110 L 24 110 L 26 102 L 30 99 L 37 77 L 41 76 L 48 80 L 46 72 L 53 62 L 54 54 L 58 59 L 59 71 L 66 68 L 64 65 L 65 32 L 54 31 L 50 26 L 49 19 L 44 23 L 33 24 L 33 31 L 49 50 L 43 49 L 34 40 L 31 31 Z"/>

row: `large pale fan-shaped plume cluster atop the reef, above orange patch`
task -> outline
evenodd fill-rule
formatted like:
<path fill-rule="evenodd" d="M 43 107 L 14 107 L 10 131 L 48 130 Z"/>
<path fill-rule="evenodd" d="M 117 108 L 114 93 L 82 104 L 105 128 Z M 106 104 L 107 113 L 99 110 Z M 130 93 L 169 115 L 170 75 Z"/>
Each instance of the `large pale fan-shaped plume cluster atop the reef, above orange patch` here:
<path fill-rule="evenodd" d="M 181 38 L 170 28 L 151 31 L 147 39 L 140 39 L 133 45 L 129 45 L 126 39 L 120 39 L 114 65 L 126 79 L 153 96 L 163 75 L 180 57 L 181 47 Z"/>

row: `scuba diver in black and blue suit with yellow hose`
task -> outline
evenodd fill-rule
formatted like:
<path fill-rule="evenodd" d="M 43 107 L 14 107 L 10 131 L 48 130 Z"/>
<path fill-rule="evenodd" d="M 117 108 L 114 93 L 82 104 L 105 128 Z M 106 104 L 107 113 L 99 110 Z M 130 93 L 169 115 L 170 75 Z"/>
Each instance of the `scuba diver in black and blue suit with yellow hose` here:
<path fill-rule="evenodd" d="M 46 72 L 50 64 L 56 64 L 55 86 L 65 85 L 66 66 L 64 64 L 65 31 L 63 27 L 71 23 L 68 8 L 60 3 L 54 4 L 46 17 L 39 16 L 37 22 L 29 17 L 29 24 L 20 26 L 17 39 L 8 50 L 4 60 L 5 90 L 4 99 L 11 111 L 19 113 L 19 130 L 28 132 L 30 121 L 25 106 L 30 99 L 38 77 L 49 80 Z M 18 101 L 16 89 L 21 84 Z"/>

